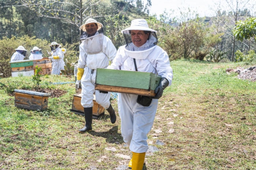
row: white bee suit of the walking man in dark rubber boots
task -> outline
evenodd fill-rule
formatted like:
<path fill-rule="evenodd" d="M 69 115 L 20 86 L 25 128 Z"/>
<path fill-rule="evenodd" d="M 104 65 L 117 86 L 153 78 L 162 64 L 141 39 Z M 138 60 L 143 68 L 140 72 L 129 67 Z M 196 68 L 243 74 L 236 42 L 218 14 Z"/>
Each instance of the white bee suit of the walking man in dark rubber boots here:
<path fill-rule="evenodd" d="M 109 61 L 113 61 L 117 52 L 116 47 L 107 36 L 96 32 L 94 36 L 82 41 L 79 50 L 78 68 L 84 69 L 81 79 L 81 105 L 84 108 L 93 107 L 93 93 L 95 92 L 96 102 L 104 108 L 109 108 L 111 94 L 95 91 L 95 78 L 97 68 L 106 68 L 109 66 Z"/>

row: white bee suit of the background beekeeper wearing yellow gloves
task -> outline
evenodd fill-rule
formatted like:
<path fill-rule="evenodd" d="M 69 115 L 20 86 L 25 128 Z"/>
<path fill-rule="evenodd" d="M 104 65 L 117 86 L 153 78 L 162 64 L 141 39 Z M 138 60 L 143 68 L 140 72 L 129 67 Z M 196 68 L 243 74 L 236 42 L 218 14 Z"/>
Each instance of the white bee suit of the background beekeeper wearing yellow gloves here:
<path fill-rule="evenodd" d="M 59 57 L 59 59 L 54 59 L 55 56 Z M 63 60 L 63 56 L 64 56 L 63 52 L 59 47 L 52 51 L 52 58 L 51 58 L 52 73 L 51 74 L 60 75 L 60 70 L 64 70 L 65 62 Z"/>

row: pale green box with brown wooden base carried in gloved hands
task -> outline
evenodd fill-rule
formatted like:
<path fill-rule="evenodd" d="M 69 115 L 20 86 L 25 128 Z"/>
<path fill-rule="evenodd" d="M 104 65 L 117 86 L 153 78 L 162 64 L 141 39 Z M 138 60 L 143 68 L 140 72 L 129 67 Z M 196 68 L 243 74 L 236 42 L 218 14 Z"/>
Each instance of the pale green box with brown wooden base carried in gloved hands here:
<path fill-rule="evenodd" d="M 97 68 L 95 90 L 155 96 L 160 80 L 150 72 Z"/>

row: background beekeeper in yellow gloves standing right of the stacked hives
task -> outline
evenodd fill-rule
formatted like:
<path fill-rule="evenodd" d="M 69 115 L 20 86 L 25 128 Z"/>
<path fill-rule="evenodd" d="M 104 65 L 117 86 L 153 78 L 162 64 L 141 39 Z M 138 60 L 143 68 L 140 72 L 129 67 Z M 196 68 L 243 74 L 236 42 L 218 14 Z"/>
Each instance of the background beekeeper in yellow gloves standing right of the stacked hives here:
<path fill-rule="evenodd" d="M 49 46 L 51 47 L 51 51 L 52 51 L 52 56 L 49 57 L 49 59 L 52 60 L 51 74 L 60 75 L 60 70 L 64 70 L 64 65 L 65 65 L 64 55 L 59 47 L 60 44 L 53 41 Z"/>

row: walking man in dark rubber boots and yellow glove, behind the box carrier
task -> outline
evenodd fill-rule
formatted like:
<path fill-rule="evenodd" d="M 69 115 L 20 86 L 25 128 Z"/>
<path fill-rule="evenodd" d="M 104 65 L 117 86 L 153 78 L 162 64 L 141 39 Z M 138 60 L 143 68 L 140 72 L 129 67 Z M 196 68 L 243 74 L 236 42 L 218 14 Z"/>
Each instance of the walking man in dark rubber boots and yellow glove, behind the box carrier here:
<path fill-rule="evenodd" d="M 81 25 L 81 40 L 79 46 L 78 72 L 76 88 L 82 85 L 81 105 L 84 107 L 85 126 L 78 130 L 79 133 L 85 133 L 92 129 L 93 119 L 93 99 L 104 107 L 110 115 L 111 123 L 116 122 L 116 114 L 110 104 L 110 92 L 95 91 L 95 78 L 97 68 L 106 68 L 109 61 L 112 62 L 116 56 L 116 47 L 112 41 L 103 35 L 103 25 L 95 19 L 88 19 Z"/>

